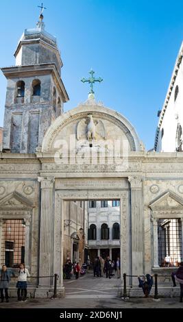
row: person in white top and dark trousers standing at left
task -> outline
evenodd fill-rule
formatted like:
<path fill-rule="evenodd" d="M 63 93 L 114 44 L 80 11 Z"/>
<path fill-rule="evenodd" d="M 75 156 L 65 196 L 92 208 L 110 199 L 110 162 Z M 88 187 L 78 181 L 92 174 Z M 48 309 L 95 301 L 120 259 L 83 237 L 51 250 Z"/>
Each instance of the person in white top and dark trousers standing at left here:
<path fill-rule="evenodd" d="M 29 271 L 25 269 L 25 264 L 20 265 L 18 282 L 16 283 L 18 301 L 27 301 L 27 277 L 29 277 Z"/>

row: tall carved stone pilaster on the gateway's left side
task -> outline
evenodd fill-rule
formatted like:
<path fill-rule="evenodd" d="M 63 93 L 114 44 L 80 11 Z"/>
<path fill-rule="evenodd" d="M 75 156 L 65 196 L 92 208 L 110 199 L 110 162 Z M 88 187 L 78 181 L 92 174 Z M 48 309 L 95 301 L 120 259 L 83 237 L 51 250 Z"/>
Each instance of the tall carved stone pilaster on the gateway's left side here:
<path fill-rule="evenodd" d="M 40 178 L 40 262 L 39 276 L 53 275 L 53 178 Z M 39 287 L 53 285 L 52 277 L 39 279 Z"/>

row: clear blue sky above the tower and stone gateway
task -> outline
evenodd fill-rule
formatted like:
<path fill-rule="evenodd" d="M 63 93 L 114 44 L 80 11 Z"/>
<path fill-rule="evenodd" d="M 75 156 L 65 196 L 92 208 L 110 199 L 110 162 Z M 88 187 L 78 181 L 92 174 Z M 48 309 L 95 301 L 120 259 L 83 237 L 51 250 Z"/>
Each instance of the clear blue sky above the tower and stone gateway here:
<path fill-rule="evenodd" d="M 41 3 L 41 1 L 40 1 Z M 1 1 L 0 66 L 14 65 L 23 29 L 36 25 L 38 0 Z M 183 1 L 45 0 L 47 32 L 61 50 L 62 80 L 70 110 L 88 95 L 92 67 L 104 81 L 96 99 L 121 112 L 134 125 L 147 149 L 154 146 L 158 123 L 175 59 L 183 38 Z M 3 126 L 6 79 L 0 75 L 0 126 Z"/>

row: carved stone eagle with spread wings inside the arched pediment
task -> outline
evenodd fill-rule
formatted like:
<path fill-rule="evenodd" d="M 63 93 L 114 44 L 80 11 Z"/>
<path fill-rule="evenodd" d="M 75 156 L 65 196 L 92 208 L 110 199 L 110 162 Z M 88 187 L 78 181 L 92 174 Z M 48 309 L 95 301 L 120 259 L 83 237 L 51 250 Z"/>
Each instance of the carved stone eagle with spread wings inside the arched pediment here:
<path fill-rule="evenodd" d="M 89 114 L 87 119 L 82 119 L 77 124 L 77 140 L 99 140 L 106 139 L 106 129 L 101 120 L 94 120 L 93 115 Z"/>

